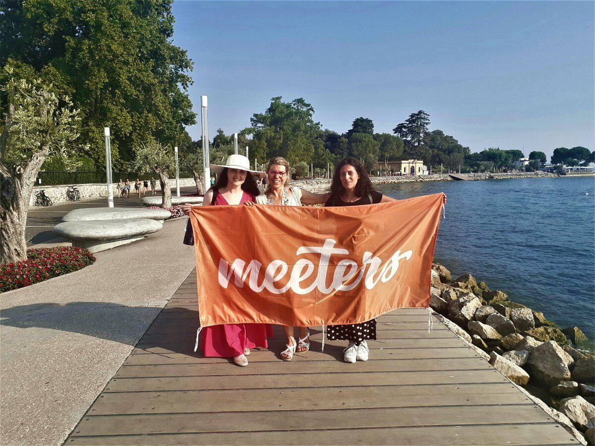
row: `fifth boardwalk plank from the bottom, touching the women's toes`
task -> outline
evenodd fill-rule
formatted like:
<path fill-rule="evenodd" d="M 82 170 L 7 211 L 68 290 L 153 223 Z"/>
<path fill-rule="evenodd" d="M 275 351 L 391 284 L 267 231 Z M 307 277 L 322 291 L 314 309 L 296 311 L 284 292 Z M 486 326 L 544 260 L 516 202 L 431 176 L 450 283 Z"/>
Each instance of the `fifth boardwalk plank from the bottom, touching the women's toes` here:
<path fill-rule="evenodd" d="M 377 359 L 356 365 L 359 372 L 418 372 L 428 370 L 493 370 L 480 357 L 441 359 Z M 230 368 L 228 363 L 122 366 L 115 376 L 279 375 L 283 373 L 351 373 L 353 365 L 343 361 L 276 361 L 250 363 L 250 367 Z"/>

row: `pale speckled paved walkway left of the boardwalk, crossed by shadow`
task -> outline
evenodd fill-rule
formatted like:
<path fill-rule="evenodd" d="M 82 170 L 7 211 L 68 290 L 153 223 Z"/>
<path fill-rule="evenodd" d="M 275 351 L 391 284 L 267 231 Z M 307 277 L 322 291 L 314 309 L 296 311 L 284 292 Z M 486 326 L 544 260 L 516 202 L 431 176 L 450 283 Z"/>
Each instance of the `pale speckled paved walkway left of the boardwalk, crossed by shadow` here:
<path fill-rule="evenodd" d="M 57 206 L 56 206 L 57 207 Z M 186 218 L 0 299 L 0 442 L 59 445 L 196 262 Z"/>

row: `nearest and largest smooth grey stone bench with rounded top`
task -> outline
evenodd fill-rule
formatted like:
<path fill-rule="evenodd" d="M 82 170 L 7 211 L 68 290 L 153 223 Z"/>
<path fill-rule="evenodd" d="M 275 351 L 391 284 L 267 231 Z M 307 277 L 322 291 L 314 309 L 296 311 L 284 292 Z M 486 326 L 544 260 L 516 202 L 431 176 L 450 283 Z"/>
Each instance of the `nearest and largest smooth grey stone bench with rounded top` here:
<path fill-rule="evenodd" d="M 148 218 L 121 220 L 67 221 L 55 225 L 54 234 L 72 240 L 73 246 L 90 252 L 111 249 L 131 243 L 156 233 L 163 227 L 161 222 Z"/>

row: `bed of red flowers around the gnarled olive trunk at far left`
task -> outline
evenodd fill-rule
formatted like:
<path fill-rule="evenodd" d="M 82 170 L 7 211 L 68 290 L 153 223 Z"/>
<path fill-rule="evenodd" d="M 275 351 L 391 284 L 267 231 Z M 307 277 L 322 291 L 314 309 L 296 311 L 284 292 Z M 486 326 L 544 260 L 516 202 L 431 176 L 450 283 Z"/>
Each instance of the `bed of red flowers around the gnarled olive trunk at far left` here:
<path fill-rule="evenodd" d="M 86 249 L 71 246 L 29 249 L 24 262 L 0 265 L 0 293 L 77 271 L 95 260 Z"/>

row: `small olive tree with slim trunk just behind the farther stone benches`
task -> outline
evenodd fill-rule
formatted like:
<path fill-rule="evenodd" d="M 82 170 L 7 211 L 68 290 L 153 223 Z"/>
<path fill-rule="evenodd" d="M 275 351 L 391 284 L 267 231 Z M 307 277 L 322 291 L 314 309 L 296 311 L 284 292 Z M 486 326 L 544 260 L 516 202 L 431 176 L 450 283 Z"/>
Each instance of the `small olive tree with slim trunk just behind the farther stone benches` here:
<path fill-rule="evenodd" d="M 154 139 L 134 148 L 132 167 L 136 171 L 153 171 L 159 177 L 161 185 L 161 207 L 171 208 L 170 173 L 176 166 L 174 150 L 163 146 Z"/>

